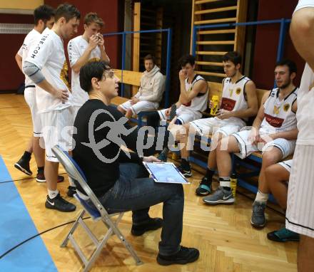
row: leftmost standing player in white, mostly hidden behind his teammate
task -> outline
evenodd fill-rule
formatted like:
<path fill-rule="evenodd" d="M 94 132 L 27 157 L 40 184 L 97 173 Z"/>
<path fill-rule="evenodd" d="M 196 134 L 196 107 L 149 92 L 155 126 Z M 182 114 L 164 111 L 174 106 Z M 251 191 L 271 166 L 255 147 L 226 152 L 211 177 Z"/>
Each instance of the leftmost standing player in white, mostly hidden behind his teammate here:
<path fill-rule="evenodd" d="M 42 5 L 34 10 L 34 28 L 26 35 L 23 45 L 16 53 L 15 59 L 19 68 L 22 70 L 23 62 L 29 53 L 31 46 L 34 46 L 37 38 L 44 31 L 46 27 L 52 28 L 54 25 L 54 9 L 51 6 Z M 24 155 L 14 164 L 14 167 L 21 170 L 25 174 L 31 175 L 31 169 L 29 167 L 29 161 L 31 160 L 31 153 L 34 152 L 36 164 L 38 167 L 36 180 L 41 182 L 44 175 L 44 163 L 45 163 L 45 150 L 39 146 L 39 139 L 41 137 L 41 120 L 38 113 L 36 104 L 35 84 L 25 76 L 25 90 L 24 98 L 31 110 L 31 120 L 33 123 L 33 136 L 29 142 L 28 149 L 24 152 Z M 63 177 L 61 177 L 63 178 Z"/>

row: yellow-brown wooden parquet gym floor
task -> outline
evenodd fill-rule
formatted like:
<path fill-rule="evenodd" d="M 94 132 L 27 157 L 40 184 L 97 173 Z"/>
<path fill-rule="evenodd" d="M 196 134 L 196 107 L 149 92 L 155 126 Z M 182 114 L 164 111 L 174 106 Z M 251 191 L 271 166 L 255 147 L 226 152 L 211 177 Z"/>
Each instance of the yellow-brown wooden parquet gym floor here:
<path fill-rule="evenodd" d="M 14 163 L 23 154 L 32 131 L 31 116 L 23 95 L 0 95 L 0 116 L 0 155 L 14 181 L 11 184 L 14 184 L 19 192 L 38 233 L 75 220 L 81 211 L 79 206 L 76 211 L 68 214 L 45 209 L 46 184 L 40 184 L 36 182 L 34 176 L 29 178 L 14 168 Z M 31 159 L 31 169 L 35 174 L 34 156 Z M 59 172 L 64 174 L 64 169 L 60 168 Z M 64 176 L 66 177 L 65 174 Z M 119 226 L 144 264 L 135 266 L 133 258 L 121 244 L 118 244 L 116 237 L 113 237 L 101 252 L 92 271 L 297 271 L 297 243 L 280 244 L 268 241 L 266 238 L 269 231 L 283 226 L 283 215 L 272 209 L 266 209 L 267 226 L 261 230 L 253 229 L 250 226 L 252 200 L 243 194 L 238 194 L 236 204 L 232 206 L 206 206 L 202 199 L 196 197 L 194 193 L 201 177 L 201 173 L 194 171 L 193 177 L 190 178 L 192 184 L 184 187 L 186 202 L 182 237 L 184 246 L 194 246 L 200 250 L 201 256 L 198 261 L 186 266 L 158 266 L 156 255 L 161 230 L 151 231 L 140 237 L 131 236 L 131 213 L 128 212 L 123 216 Z M 3 192 L 1 189 L 7 183 L 0 182 L 1 197 L 1 192 Z M 63 196 L 66 195 L 68 186 L 67 178 L 65 182 L 59 184 Z M 214 187 L 216 186 L 217 183 L 214 183 Z M 239 191 L 245 192 L 243 189 L 239 189 Z M 245 192 L 245 194 L 248 193 Z M 70 199 L 70 201 L 75 202 L 74 199 Z M 161 216 L 162 205 L 151 207 L 150 214 L 151 216 Z M 11 220 L 8 220 L 7 223 L 17 224 L 15 222 L 18 221 L 15 221 L 15 218 L 18 216 L 12 214 Z M 86 222 L 92 223 L 91 219 L 86 219 Z M 1 224 L 0 228 L 6 226 L 8 229 L 8 224 Z M 91 229 L 101 234 L 101 231 L 96 230 L 98 226 L 102 227 L 100 223 L 90 225 Z M 81 270 L 82 263 L 78 260 L 71 244 L 65 249 L 59 247 L 70 226 L 71 224 L 67 224 L 41 234 L 40 237 L 44 241 L 55 267 L 37 267 L 36 271 L 56 271 L 57 269 L 58 271 L 72 272 Z M 21 231 L 23 229 L 24 226 L 21 226 Z M 0 232 L 2 231 L 3 229 L 0 229 Z M 81 232 L 78 231 L 78 234 Z M 78 236 L 76 235 L 76 237 Z M 14 237 L 14 235 L 6 237 L 6 239 L 10 239 L 10 237 Z M 91 251 L 93 249 L 91 241 L 88 241 L 85 236 L 81 235 L 80 237 L 79 240 L 86 252 Z M 19 244 L 19 241 L 14 239 L 9 242 L 12 247 Z M 28 252 L 29 256 L 36 258 L 36 250 L 30 248 L 30 243 L 31 241 L 27 241 L 3 256 L 0 259 L 0 271 L 4 271 L 1 269 L 1 263 L 9 258 L 11 258 L 11 271 L 17 271 L 15 270 L 16 263 L 19 263 L 20 257 L 12 260 L 14 251 Z M 6 250 L 1 249 L 0 243 L 0 256 Z M 34 252 L 29 252 L 30 250 L 34 250 Z M 22 270 L 26 271 L 27 267 Z"/>

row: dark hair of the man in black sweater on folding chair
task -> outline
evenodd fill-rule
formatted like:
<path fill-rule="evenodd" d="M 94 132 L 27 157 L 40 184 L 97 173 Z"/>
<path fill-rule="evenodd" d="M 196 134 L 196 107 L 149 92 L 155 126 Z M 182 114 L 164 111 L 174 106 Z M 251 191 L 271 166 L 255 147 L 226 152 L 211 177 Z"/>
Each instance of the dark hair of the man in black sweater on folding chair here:
<path fill-rule="evenodd" d="M 106 61 L 92 61 L 86 63 L 80 70 L 81 88 L 89 93 L 91 91 L 91 79 L 98 78 L 98 80 L 101 80 L 105 70 L 111 70 L 111 67 L 108 66 Z"/>

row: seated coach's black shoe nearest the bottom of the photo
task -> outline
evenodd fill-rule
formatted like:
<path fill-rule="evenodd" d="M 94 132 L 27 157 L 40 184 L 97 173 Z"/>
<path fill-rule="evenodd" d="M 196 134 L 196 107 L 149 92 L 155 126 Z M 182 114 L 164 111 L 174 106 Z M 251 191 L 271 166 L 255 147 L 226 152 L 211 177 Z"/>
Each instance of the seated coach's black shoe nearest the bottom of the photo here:
<path fill-rule="evenodd" d="M 158 254 L 157 263 L 161 266 L 169 266 L 171 264 L 186 264 L 193 263 L 200 256 L 200 251 L 198 249 L 186 248 L 185 246 L 181 246 L 180 251 L 176 254 L 170 256 L 163 256 Z"/>

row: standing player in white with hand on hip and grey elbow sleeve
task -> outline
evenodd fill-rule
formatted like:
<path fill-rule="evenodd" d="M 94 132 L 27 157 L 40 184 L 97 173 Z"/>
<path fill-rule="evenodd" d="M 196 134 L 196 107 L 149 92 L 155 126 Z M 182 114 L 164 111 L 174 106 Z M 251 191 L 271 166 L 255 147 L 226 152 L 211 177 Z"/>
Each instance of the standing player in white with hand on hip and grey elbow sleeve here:
<path fill-rule="evenodd" d="M 59 162 L 51 148 L 60 145 L 64 150 L 71 149 L 71 139 L 65 139 L 66 129 L 70 132 L 73 126 L 73 109 L 63 41 L 77 33 L 80 16 L 71 4 L 58 6 L 53 28 L 44 30 L 23 66 L 24 73 L 36 84 L 36 102 L 44 130 L 44 174 L 48 187 L 45 206 L 59 211 L 76 209 L 74 204 L 61 197 L 57 189 Z"/>

